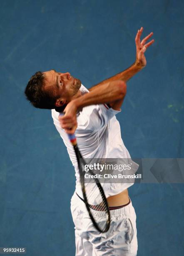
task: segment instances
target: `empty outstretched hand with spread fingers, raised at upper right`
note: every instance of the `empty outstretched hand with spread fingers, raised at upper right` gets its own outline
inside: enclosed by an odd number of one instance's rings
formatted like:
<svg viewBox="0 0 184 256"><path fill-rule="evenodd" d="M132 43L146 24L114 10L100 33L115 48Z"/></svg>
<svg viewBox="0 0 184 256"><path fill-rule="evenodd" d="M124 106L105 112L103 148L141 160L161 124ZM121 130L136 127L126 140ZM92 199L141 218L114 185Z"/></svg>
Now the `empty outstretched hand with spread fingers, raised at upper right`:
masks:
<svg viewBox="0 0 184 256"><path fill-rule="evenodd" d="M140 37L142 35L143 27L138 30L137 35L135 37L135 44L136 44L136 61L135 64L145 67L146 66L146 58L144 56L145 51L147 48L154 43L154 39L152 39L150 42L147 42L147 40L153 35L153 32L151 32L148 36L146 36L142 41L140 41Z"/></svg>

